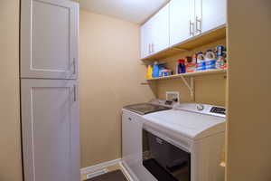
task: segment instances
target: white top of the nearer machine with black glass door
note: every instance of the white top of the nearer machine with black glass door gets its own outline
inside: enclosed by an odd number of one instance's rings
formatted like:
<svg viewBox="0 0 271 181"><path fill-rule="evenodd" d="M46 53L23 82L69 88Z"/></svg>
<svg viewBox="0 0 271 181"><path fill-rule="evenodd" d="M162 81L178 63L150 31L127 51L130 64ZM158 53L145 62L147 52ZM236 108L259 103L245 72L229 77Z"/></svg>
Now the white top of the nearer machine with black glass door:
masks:
<svg viewBox="0 0 271 181"><path fill-rule="evenodd" d="M225 119L221 117L186 111L164 110L143 116L145 124L159 129L170 129L183 137L198 140L224 132Z"/></svg>

